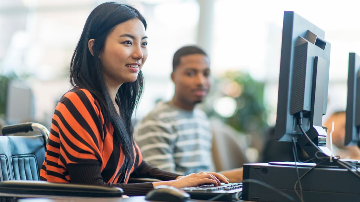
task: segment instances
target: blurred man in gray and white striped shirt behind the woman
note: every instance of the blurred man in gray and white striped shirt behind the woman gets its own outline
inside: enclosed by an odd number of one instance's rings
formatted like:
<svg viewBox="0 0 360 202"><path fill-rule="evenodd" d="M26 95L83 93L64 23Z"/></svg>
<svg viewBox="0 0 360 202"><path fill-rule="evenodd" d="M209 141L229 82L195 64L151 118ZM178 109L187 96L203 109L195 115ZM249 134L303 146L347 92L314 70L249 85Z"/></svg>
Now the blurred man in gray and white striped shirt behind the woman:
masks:
<svg viewBox="0 0 360 202"><path fill-rule="evenodd" d="M149 164L179 174L214 171L212 131L207 115L195 106L210 90L210 60L196 46L177 50L171 79L172 100L160 102L135 127L135 140ZM242 181L243 169L220 171L230 182Z"/></svg>

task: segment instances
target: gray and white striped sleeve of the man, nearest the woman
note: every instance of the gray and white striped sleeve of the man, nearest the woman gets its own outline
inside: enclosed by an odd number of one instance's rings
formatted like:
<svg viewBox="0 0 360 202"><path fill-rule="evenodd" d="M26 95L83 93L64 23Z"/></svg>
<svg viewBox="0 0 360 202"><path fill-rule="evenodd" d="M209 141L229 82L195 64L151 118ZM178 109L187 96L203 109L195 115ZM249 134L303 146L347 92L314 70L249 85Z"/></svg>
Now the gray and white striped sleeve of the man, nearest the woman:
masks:
<svg viewBox="0 0 360 202"><path fill-rule="evenodd" d="M147 116L136 125L134 135L146 162L159 169L175 172L173 155L176 137L170 124Z"/></svg>

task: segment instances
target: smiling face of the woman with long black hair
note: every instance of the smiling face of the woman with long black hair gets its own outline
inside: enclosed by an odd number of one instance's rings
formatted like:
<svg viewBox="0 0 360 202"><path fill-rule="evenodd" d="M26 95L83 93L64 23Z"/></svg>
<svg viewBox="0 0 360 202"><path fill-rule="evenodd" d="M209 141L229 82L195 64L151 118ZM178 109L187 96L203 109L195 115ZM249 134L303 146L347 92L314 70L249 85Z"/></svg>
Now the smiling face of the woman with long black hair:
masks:
<svg viewBox="0 0 360 202"><path fill-rule="evenodd" d="M144 24L137 18L118 24L106 38L99 59L108 86L134 82L147 57Z"/></svg>

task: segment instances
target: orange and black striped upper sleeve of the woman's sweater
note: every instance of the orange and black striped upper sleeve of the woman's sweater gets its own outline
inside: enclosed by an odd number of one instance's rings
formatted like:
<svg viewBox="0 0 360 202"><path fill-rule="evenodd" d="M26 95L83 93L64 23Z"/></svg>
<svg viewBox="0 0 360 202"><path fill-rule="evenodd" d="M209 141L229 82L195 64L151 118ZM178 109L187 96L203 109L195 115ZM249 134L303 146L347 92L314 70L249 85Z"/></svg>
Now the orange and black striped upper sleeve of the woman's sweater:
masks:
<svg viewBox="0 0 360 202"><path fill-rule="evenodd" d="M75 89L60 100L53 116L53 126L61 142L62 166L87 160L102 162L102 121L99 114L89 91Z"/></svg>

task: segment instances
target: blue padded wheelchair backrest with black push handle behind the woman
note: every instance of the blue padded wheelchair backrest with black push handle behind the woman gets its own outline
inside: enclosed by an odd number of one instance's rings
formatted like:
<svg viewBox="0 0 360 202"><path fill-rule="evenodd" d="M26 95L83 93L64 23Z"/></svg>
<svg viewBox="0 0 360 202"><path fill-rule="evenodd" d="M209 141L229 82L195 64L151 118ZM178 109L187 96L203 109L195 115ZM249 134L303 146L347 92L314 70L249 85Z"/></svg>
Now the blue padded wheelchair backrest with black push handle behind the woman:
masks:
<svg viewBox="0 0 360 202"><path fill-rule="evenodd" d="M36 125L37 123L30 122L2 128L4 136L0 136L0 181L40 180L39 173L45 160L48 130L44 127L45 129L41 129L41 133L44 134L33 136L9 135L32 131Z"/></svg>

